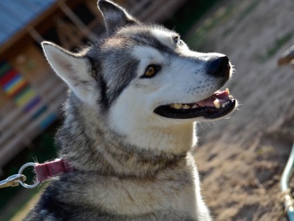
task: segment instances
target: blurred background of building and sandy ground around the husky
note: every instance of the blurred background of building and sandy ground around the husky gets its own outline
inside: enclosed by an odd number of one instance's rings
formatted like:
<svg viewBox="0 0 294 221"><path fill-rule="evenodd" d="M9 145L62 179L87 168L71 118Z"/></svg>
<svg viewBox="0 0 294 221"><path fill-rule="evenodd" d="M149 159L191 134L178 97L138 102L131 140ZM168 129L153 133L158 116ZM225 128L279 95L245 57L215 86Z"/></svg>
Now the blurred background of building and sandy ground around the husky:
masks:
<svg viewBox="0 0 294 221"><path fill-rule="evenodd" d="M196 51L230 57L230 120L198 125L196 163L215 220L286 220L279 179L294 141L293 0L116 0ZM0 179L57 156L67 88L40 42L78 51L105 31L96 0L0 1ZM292 61L291 61L292 60ZM180 73L179 73L180 74ZM33 173L26 172L28 182ZM46 185L45 185L46 186ZM291 187L294 186L292 182ZM41 188L0 189L0 220L21 220Z"/></svg>

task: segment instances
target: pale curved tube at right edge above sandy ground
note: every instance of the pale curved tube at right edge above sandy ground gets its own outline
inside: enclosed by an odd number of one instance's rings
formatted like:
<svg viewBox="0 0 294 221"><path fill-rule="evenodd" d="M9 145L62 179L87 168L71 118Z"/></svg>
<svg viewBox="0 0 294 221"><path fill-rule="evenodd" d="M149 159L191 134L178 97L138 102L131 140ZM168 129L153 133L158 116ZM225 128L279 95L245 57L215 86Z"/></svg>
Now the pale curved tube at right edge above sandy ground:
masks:
<svg viewBox="0 0 294 221"><path fill-rule="evenodd" d="M281 177L281 191L284 193L284 206L288 215L289 221L294 221L294 205L293 205L293 198L291 195L291 191L288 186L289 177L293 171L294 167L294 143L291 150L291 154L288 158L288 162L286 164L286 167L283 171L282 177Z"/></svg>

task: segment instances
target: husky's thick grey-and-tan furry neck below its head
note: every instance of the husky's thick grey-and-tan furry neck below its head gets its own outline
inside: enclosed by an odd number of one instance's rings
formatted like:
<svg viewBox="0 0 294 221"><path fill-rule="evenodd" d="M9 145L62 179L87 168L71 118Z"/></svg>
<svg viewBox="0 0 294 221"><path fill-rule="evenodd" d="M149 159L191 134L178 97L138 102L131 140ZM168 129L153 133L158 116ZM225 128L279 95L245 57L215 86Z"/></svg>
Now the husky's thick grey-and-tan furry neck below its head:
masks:
<svg viewBox="0 0 294 221"><path fill-rule="evenodd" d="M58 131L56 140L62 158L76 170L121 177L153 177L159 170L182 161L196 141L193 125L139 131L136 137L126 138L110 132L103 119L97 118L94 110L74 102ZM148 148L140 140L148 140Z"/></svg>

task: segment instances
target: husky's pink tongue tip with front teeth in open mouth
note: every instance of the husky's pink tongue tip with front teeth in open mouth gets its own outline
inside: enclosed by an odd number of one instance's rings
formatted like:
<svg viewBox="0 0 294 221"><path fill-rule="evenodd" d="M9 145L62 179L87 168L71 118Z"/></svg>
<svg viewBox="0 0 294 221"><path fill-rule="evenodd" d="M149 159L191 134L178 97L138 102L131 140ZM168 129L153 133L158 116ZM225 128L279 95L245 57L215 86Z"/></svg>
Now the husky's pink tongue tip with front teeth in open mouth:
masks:
<svg viewBox="0 0 294 221"><path fill-rule="evenodd" d="M206 99L202 101L197 101L196 104L201 107L205 106L211 106L211 107L217 107L218 108L222 105L225 104L225 102L229 99L230 96L230 91L229 89L225 89L223 91L216 91L214 95L211 97L207 97Z"/></svg>

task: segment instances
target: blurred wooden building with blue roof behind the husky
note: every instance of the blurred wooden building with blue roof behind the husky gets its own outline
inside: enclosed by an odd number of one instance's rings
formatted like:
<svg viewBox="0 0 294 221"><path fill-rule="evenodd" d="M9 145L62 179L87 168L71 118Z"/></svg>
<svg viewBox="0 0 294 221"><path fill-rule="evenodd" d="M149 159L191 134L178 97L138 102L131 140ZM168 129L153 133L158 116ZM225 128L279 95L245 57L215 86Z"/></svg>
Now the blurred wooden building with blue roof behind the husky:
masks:
<svg viewBox="0 0 294 221"><path fill-rule="evenodd" d="M117 0L141 20L164 22L185 0ZM0 168L60 115L66 87L40 42L74 50L104 31L96 0L0 1Z"/></svg>

